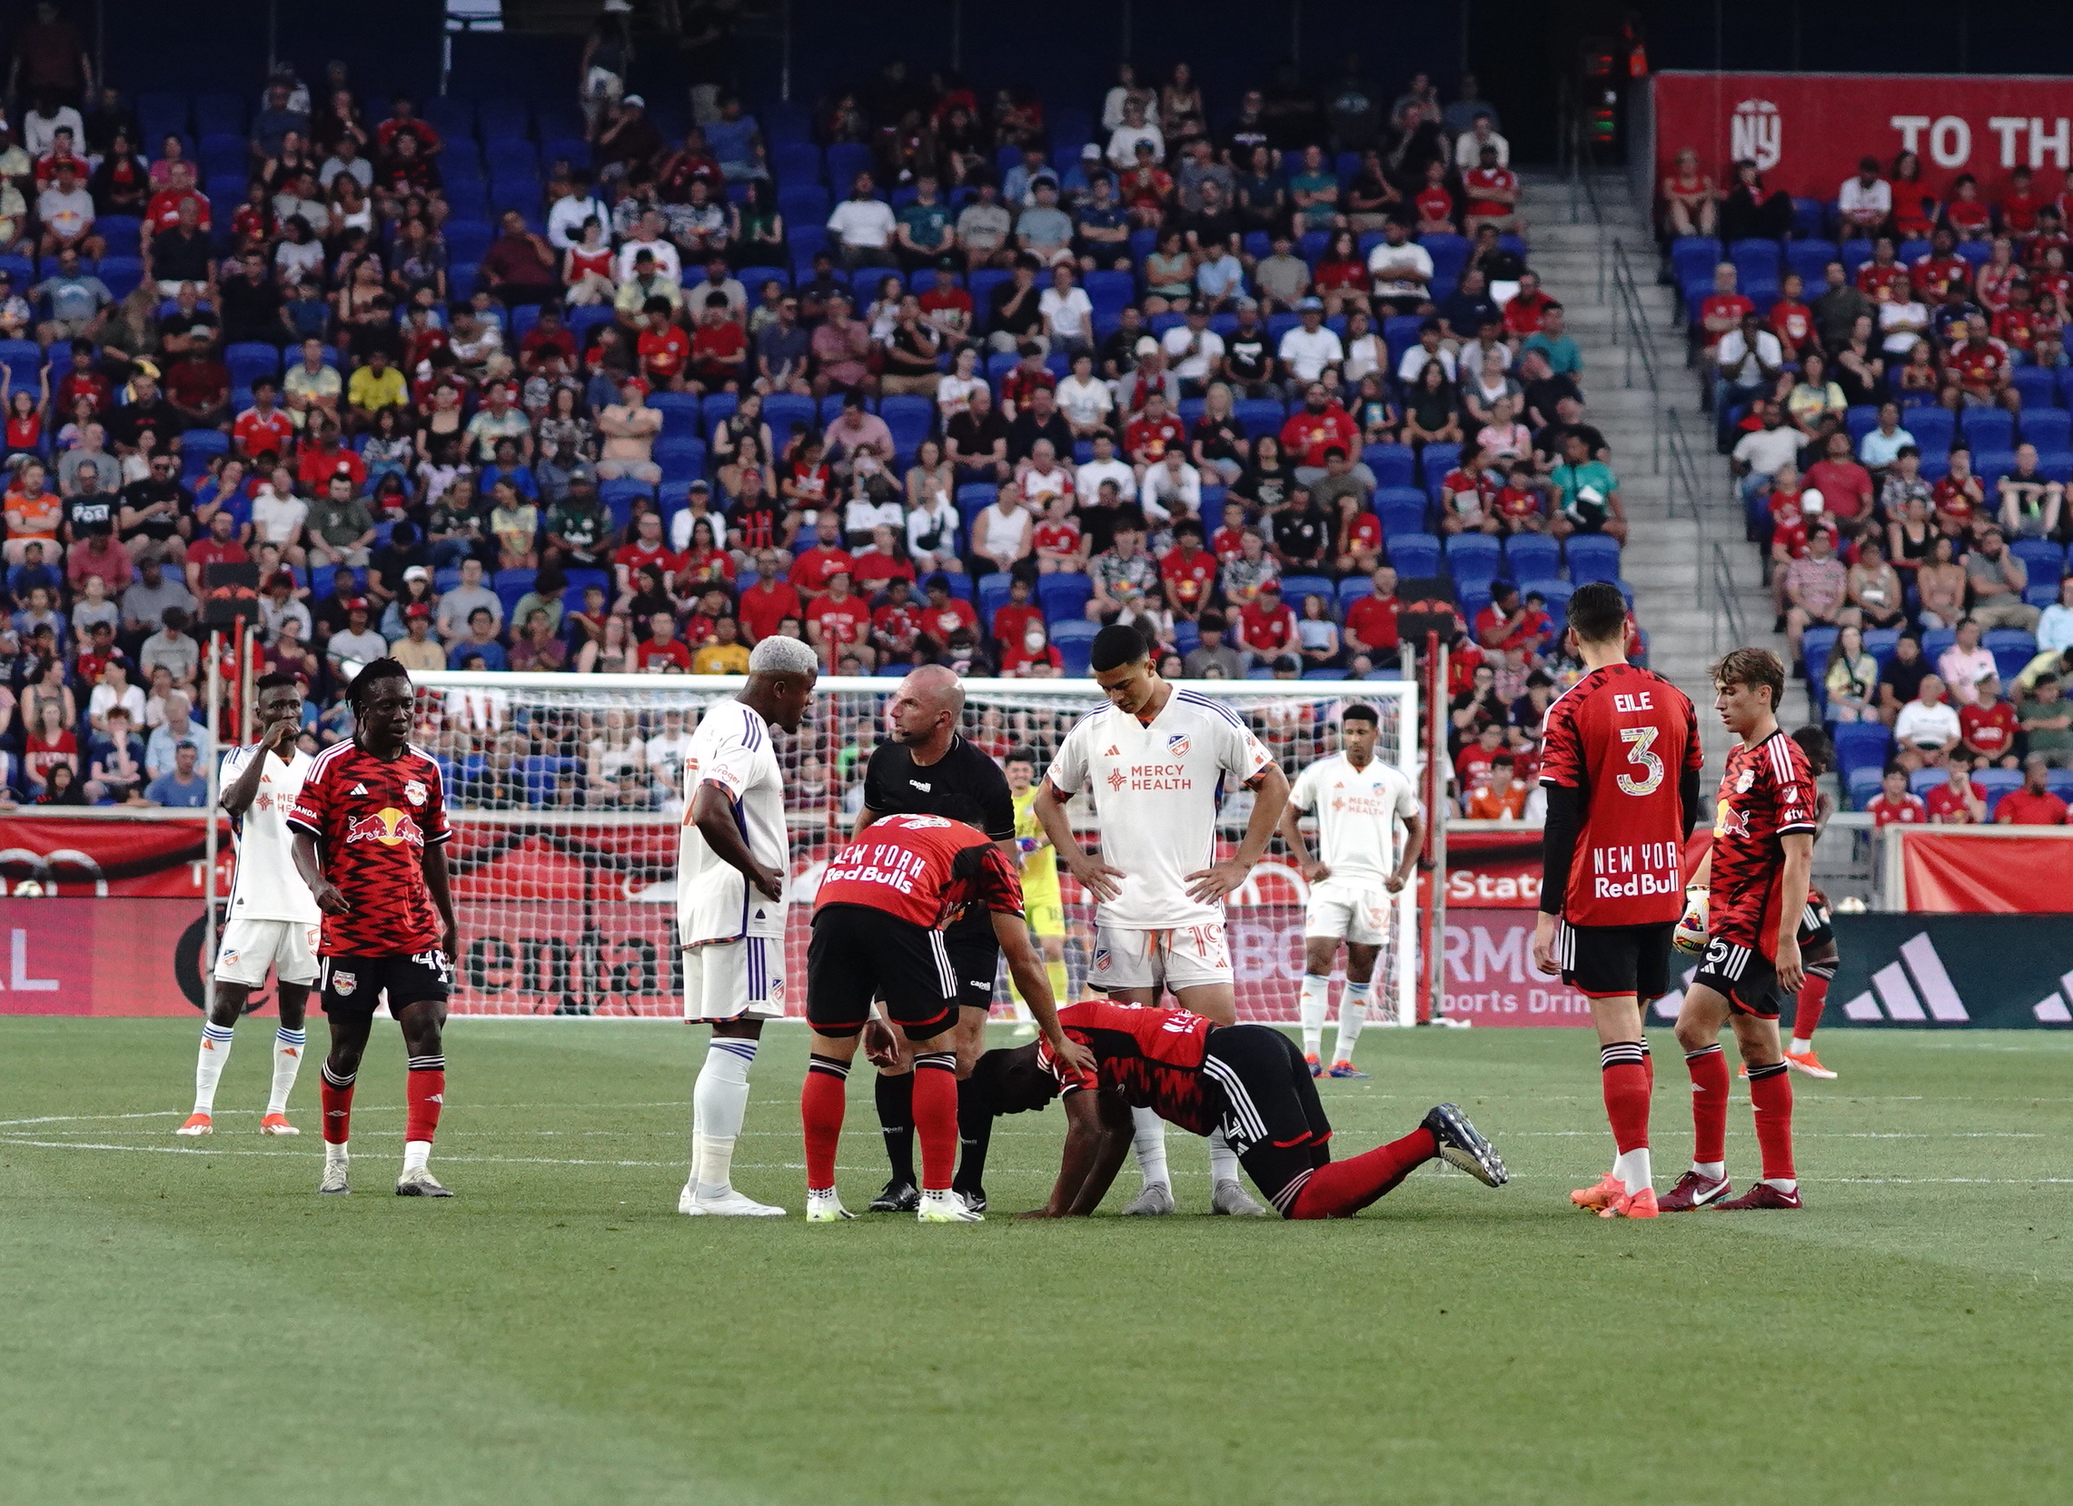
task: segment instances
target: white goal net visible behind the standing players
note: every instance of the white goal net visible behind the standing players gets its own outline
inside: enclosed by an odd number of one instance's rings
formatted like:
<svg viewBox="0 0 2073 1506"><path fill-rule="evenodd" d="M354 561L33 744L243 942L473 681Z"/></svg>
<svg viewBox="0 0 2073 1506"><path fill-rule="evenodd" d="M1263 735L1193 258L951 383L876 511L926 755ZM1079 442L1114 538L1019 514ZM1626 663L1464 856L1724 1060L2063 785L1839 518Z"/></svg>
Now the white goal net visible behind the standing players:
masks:
<svg viewBox="0 0 2073 1506"><path fill-rule="evenodd" d="M419 673L417 742L448 785L448 868L460 909L456 1013L674 1015L682 1009L676 851L682 760L703 711L738 688L711 675ZM885 735L893 677L823 677L796 735L777 733L792 829L788 974L806 976L819 874L862 808L864 762ZM1294 777L1337 752L1339 711L1381 715L1376 756L1416 781L1416 688L1401 682L1188 682L1246 719ZM993 754L1028 748L1039 777L1066 731L1101 704L1088 679L968 679L962 733ZM1252 795L1227 795L1219 851L1244 835ZM1072 806L1082 841L1099 812ZM1066 967L1084 996L1092 905L1059 864ZM1416 1021L1416 885L1389 907L1379 1019ZM1229 899L1240 1019L1291 1023L1308 885L1279 837ZM1401 938L1401 940L1399 940ZM1341 955L1343 967L1343 955ZM995 1011L1014 1009L1003 976ZM792 1013L804 1013L804 990Z"/></svg>

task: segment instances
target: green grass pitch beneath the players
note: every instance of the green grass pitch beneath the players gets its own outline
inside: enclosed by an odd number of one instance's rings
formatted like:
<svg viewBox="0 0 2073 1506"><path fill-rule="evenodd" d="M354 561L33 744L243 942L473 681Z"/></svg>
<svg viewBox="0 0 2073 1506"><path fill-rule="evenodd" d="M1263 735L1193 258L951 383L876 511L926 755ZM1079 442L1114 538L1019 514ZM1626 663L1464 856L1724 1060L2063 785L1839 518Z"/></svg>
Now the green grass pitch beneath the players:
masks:
<svg viewBox="0 0 2073 1506"><path fill-rule="evenodd" d="M195 1036L0 1021L6 1502L1998 1506L2073 1477L2069 1038L1835 1034L1843 1079L1795 1077L1801 1214L1575 1214L1609 1156L1586 1032L1372 1032L1374 1081L1323 1083L1339 1143L1453 1098L1509 1187L1435 1166L1354 1222L1014 1222L1053 1110L1001 1123L983 1226L808 1228L796 1030L736 1162L782 1222L674 1212L705 1032L456 1021L452 1201L390 1195L394 1032L348 1199L315 1195L315 1063L303 1137L257 1135L272 1019L214 1139L172 1137ZM1689 1121L1656 1046L1667 1187ZM1198 1214L1202 1152L1169 1146ZM1737 1185L1752 1162L1737 1083Z"/></svg>

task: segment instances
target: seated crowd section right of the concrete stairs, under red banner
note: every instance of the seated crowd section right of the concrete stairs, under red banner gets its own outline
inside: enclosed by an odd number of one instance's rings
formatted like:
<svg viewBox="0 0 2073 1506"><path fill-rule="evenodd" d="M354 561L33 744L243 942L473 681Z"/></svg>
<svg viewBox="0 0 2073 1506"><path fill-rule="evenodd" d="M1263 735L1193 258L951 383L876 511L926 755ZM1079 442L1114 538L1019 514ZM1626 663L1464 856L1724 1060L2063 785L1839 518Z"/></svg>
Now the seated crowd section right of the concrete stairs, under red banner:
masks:
<svg viewBox="0 0 2073 1506"><path fill-rule="evenodd" d="M1667 267L1847 789L1882 824L2065 824L2069 197L2027 168L1938 197L1911 151L1826 203L1723 182L1675 157Z"/></svg>

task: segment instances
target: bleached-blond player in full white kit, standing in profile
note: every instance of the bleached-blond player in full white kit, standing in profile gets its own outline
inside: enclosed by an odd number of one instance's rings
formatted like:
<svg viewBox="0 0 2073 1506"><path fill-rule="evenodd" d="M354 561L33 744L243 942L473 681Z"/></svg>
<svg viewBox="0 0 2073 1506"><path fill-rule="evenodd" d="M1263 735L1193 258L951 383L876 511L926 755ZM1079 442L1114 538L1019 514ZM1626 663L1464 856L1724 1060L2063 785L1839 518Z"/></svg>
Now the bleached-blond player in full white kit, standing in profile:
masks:
<svg viewBox="0 0 2073 1506"><path fill-rule="evenodd" d="M684 1019L713 1027L690 1090L690 1177L680 1214L784 1218L734 1191L734 1146L748 1112L748 1069L763 1021L784 1015L784 769L771 727L794 733L819 655L771 636L748 655L748 684L715 700L684 750L684 831L676 851L676 943Z"/></svg>

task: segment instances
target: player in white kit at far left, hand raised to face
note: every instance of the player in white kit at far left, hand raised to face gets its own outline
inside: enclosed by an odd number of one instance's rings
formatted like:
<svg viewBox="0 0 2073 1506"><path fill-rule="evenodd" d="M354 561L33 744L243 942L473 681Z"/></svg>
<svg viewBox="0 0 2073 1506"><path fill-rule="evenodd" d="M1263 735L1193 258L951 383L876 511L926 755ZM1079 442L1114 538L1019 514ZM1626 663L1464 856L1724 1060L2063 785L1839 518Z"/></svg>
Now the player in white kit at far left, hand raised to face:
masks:
<svg viewBox="0 0 2073 1506"><path fill-rule="evenodd" d="M216 994L201 1025L195 1061L195 1112L176 1135L207 1135L214 1129L216 1081L230 1061L230 1032L245 1013L253 988L276 974L280 1025L274 1027L274 1090L265 1100L261 1135L301 1135L288 1123L288 1094L303 1065L309 1034L303 1015L309 986L317 982L317 928L323 911L309 885L294 870L294 841L288 808L303 789L309 754L294 746L303 733L303 682L294 675L261 675L253 702L259 742L232 748L224 756L222 808L238 839L238 870L230 880L230 914L216 949Z"/></svg>

